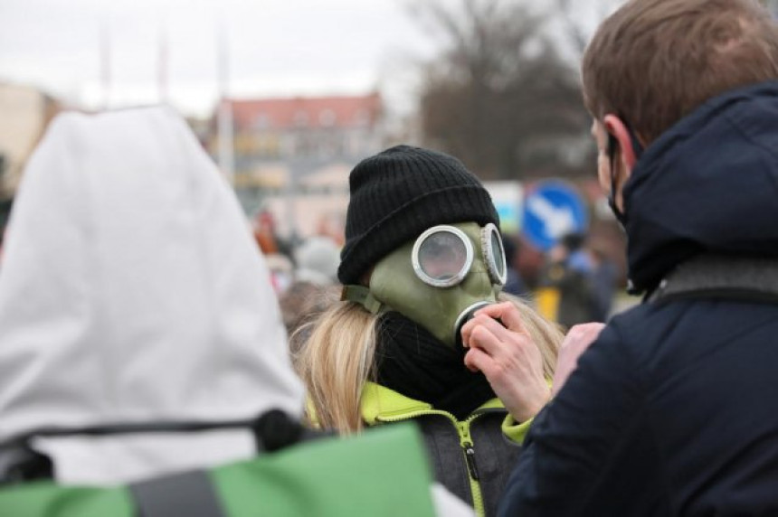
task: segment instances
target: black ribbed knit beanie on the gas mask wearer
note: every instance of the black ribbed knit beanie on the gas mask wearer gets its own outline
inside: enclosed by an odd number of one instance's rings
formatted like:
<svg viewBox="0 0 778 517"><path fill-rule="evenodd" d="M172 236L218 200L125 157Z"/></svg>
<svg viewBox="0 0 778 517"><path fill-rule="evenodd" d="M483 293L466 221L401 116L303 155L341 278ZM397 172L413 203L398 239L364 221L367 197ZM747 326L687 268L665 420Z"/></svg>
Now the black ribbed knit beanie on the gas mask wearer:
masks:
<svg viewBox="0 0 778 517"><path fill-rule="evenodd" d="M371 266L437 224L499 217L483 185L456 158L395 146L365 158L348 178L346 245L337 278L357 284Z"/></svg>

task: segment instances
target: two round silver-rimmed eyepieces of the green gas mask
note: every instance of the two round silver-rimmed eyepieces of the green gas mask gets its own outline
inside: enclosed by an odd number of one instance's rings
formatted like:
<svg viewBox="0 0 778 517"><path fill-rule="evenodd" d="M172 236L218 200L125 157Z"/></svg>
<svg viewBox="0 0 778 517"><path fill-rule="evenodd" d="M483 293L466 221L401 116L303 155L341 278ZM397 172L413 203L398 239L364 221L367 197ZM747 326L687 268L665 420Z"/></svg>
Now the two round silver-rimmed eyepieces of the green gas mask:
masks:
<svg viewBox="0 0 778 517"><path fill-rule="evenodd" d="M499 230L487 224L480 240L489 278L498 286L505 285L508 268ZM424 231L413 244L413 271L429 286L453 287L467 277L473 255L473 244L462 230L441 224Z"/></svg>

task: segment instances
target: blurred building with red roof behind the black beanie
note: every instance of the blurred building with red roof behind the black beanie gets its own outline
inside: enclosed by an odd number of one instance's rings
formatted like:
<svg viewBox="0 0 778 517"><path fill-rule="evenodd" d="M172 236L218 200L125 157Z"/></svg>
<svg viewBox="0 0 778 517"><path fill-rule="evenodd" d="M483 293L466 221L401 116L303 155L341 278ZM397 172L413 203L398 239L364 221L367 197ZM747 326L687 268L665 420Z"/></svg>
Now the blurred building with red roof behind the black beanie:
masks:
<svg viewBox="0 0 778 517"><path fill-rule="evenodd" d="M235 192L247 212L262 205L279 212L282 233L308 233L335 210L329 205L336 198L338 210L345 210L348 172L384 148L378 93L229 102ZM210 148L216 155L218 135Z"/></svg>

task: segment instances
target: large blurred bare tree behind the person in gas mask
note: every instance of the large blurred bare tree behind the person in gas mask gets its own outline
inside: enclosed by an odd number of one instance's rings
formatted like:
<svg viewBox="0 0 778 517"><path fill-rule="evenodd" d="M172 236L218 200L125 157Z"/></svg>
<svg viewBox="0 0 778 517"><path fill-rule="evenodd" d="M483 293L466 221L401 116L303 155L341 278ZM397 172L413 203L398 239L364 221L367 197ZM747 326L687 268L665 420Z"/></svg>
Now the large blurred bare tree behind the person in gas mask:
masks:
<svg viewBox="0 0 778 517"><path fill-rule="evenodd" d="M488 179L569 172L555 145L584 135L588 119L574 62L544 31L547 14L518 1L461 0L458 7L427 1L415 9L442 47L424 70L426 144Z"/></svg>

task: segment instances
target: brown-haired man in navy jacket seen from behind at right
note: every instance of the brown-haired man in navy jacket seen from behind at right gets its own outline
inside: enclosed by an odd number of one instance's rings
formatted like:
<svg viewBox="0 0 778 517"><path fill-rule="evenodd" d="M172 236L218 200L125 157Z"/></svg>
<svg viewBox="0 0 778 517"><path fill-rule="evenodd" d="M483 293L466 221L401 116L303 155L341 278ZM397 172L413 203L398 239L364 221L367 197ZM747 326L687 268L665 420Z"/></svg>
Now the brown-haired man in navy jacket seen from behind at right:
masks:
<svg viewBox="0 0 778 517"><path fill-rule="evenodd" d="M778 27L755 0L631 0L583 80L646 297L580 358L574 328L501 512L778 515Z"/></svg>

